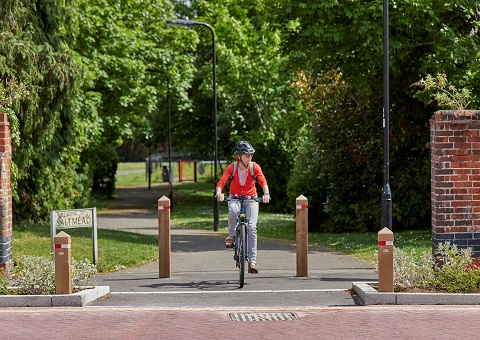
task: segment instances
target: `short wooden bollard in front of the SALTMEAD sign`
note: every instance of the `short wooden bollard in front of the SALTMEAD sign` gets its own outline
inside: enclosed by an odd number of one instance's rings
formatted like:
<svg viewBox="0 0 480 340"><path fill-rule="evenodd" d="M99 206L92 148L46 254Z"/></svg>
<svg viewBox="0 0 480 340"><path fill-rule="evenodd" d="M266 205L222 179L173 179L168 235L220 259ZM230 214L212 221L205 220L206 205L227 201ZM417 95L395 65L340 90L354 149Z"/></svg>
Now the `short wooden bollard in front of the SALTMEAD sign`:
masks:
<svg viewBox="0 0 480 340"><path fill-rule="evenodd" d="M55 293L72 294L71 237L64 231L53 238L55 247Z"/></svg>

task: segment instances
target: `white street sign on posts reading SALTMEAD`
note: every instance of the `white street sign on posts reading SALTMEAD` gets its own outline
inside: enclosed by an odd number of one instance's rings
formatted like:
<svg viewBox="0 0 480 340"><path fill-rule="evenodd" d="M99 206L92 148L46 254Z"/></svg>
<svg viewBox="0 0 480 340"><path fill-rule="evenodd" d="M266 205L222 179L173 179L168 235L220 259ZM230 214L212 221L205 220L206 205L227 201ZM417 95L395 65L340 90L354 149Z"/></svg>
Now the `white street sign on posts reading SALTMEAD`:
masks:
<svg viewBox="0 0 480 340"><path fill-rule="evenodd" d="M93 263L97 264L97 209L52 210L50 214L52 252L54 251L53 238L57 234L57 230L70 228L92 228Z"/></svg>

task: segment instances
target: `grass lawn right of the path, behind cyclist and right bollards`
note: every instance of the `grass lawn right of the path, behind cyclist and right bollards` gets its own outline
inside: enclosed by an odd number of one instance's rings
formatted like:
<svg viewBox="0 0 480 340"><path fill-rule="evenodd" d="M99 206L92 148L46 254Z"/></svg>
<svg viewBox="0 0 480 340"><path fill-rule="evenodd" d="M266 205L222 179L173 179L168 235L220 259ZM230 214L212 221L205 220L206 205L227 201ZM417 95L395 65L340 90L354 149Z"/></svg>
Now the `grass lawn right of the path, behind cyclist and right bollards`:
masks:
<svg viewBox="0 0 480 340"><path fill-rule="evenodd" d="M175 209L172 223L192 229L213 228L212 183L191 183L175 187ZM296 224L294 215L262 212L257 223L259 237L295 242ZM227 231L227 205L220 203L220 231ZM403 231L394 234L396 247L406 252L421 254L431 251L431 231ZM309 233L311 246L327 247L351 254L366 261L377 258L378 233Z"/></svg>

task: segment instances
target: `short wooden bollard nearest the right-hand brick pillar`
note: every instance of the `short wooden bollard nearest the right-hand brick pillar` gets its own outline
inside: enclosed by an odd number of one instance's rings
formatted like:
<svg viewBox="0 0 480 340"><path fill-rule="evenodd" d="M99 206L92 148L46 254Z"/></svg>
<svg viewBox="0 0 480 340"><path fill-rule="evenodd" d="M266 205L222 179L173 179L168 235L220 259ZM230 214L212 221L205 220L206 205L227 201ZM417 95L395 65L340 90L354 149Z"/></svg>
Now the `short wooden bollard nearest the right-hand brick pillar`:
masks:
<svg viewBox="0 0 480 340"><path fill-rule="evenodd" d="M393 232L378 232L378 291L393 292Z"/></svg>

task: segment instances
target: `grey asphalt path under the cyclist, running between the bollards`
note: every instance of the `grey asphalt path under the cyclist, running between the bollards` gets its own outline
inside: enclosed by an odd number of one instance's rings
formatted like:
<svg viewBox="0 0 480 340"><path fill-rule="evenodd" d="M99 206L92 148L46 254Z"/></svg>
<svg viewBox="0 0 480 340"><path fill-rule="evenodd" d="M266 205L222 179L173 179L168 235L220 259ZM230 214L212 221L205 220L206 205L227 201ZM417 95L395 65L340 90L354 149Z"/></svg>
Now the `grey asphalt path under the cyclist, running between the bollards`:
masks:
<svg viewBox="0 0 480 340"><path fill-rule="evenodd" d="M118 188L109 211L98 214L99 228L158 235L157 201L146 188ZM310 248L308 277L297 277L295 244L259 236L259 274L246 274L239 289L233 251L225 234L171 227L170 278L159 278L158 262L98 275L111 294L94 306L210 308L225 306L354 306L352 282L376 281L369 263L322 248Z"/></svg>

